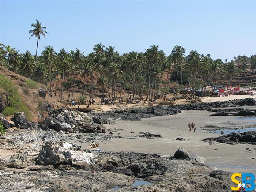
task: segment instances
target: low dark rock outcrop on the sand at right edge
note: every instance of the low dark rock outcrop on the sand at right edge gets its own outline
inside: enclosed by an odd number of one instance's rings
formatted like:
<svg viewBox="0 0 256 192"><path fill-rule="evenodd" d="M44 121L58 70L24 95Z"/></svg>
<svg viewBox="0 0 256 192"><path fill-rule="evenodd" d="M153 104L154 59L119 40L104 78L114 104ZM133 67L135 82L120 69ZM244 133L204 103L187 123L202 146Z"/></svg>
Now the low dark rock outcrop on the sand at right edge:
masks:
<svg viewBox="0 0 256 192"><path fill-rule="evenodd" d="M248 131L244 133L230 133L227 135L205 138L203 141L217 141L218 143L234 143L234 144L256 144L256 131Z"/></svg>

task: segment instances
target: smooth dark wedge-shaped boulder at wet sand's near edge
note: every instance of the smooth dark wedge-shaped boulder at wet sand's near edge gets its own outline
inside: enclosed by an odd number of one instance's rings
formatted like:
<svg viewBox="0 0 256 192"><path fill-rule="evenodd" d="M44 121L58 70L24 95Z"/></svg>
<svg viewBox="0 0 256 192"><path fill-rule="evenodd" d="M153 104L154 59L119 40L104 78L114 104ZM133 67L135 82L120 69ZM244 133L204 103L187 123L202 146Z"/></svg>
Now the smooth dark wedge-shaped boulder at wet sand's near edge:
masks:
<svg viewBox="0 0 256 192"><path fill-rule="evenodd" d="M204 163L204 158L200 157L199 155L193 154L191 151L188 151L184 148L179 148L173 158L175 159L186 159L193 163Z"/></svg>

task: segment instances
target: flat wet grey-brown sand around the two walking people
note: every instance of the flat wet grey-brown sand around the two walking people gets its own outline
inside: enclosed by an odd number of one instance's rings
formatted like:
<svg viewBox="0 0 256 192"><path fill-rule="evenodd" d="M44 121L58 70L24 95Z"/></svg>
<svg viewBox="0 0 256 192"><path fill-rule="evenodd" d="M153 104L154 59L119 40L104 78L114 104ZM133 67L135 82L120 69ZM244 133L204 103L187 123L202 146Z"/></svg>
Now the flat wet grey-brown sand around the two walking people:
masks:
<svg viewBox="0 0 256 192"><path fill-rule="evenodd" d="M249 108L255 109L256 107ZM256 160L252 159L252 157L256 157L256 146L246 144L232 146L225 143L209 145L208 142L201 141L201 139L207 137L221 136L202 130L206 129L205 125L242 128L243 126L255 125L255 119L243 119L239 116L209 116L213 113L189 110L172 116L144 118L142 121L119 120L116 125L106 125L107 128L124 129L123 131L113 132L114 135L131 137L139 135L139 132L150 132L160 133L163 138L115 138L109 142L101 143L100 148L106 151L133 151L172 156L178 148L182 147L206 158L206 164L214 165L218 169L255 174ZM191 121L196 124L196 132L188 131L187 125ZM131 133L131 131L134 133ZM177 137L182 137L186 140L177 141ZM252 152L246 150L248 147L252 149Z"/></svg>

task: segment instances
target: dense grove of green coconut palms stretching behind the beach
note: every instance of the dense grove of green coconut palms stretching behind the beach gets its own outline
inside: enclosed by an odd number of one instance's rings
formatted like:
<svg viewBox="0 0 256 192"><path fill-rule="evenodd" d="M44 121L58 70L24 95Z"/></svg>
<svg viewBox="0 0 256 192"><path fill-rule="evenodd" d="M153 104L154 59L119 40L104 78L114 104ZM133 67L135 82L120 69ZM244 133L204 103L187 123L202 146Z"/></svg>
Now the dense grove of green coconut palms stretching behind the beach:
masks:
<svg viewBox="0 0 256 192"><path fill-rule="evenodd" d="M44 30L46 27L42 27L38 21L31 27L33 29L29 33L32 34L31 37L37 38L38 48L40 38L48 33ZM61 86L55 86L54 92L59 94L59 101L66 103L72 101L76 79L82 77L85 84L81 102L85 91L89 91L88 106L93 102L95 86L101 90L102 97L108 93L113 103L117 96L127 102L137 99L152 102L159 93L172 92L175 98L178 90L188 88L192 89L190 96L193 96L193 90L203 90L208 84L229 84L238 71L256 69L256 54L250 57L237 56L230 62L223 62L196 50L191 50L188 56L185 53L184 47L176 45L166 55L159 50L158 45L152 45L145 52L120 55L112 46L97 44L88 55L84 55L80 49L67 52L63 48L56 52L49 45L38 56L37 49L36 55L30 51L22 54L10 45L0 44L0 64L45 84L51 94L54 82L61 78ZM182 91L182 97L187 96L187 92L185 94Z"/></svg>

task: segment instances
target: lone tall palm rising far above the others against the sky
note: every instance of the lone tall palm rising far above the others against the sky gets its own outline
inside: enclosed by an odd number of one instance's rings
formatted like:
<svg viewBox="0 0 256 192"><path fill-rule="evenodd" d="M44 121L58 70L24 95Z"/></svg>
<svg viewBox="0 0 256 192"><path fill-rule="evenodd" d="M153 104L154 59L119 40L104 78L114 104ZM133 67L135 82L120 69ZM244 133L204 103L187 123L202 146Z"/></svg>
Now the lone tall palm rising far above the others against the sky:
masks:
<svg viewBox="0 0 256 192"><path fill-rule="evenodd" d="M29 30L29 33L32 34L30 36L30 38L33 36L35 36L37 38L37 48L38 48L38 41L40 41L41 35L45 38L45 35L48 34L48 32L45 31L46 27L42 27L42 25L41 25L42 23L40 23L38 20L36 20L36 21L37 21L36 23L31 24L31 27L34 27L34 29ZM37 49L35 52L35 63L36 62L37 62ZM34 72L33 72L33 75L31 76L31 78L34 76L34 74L35 74L35 64L34 64Z"/></svg>

